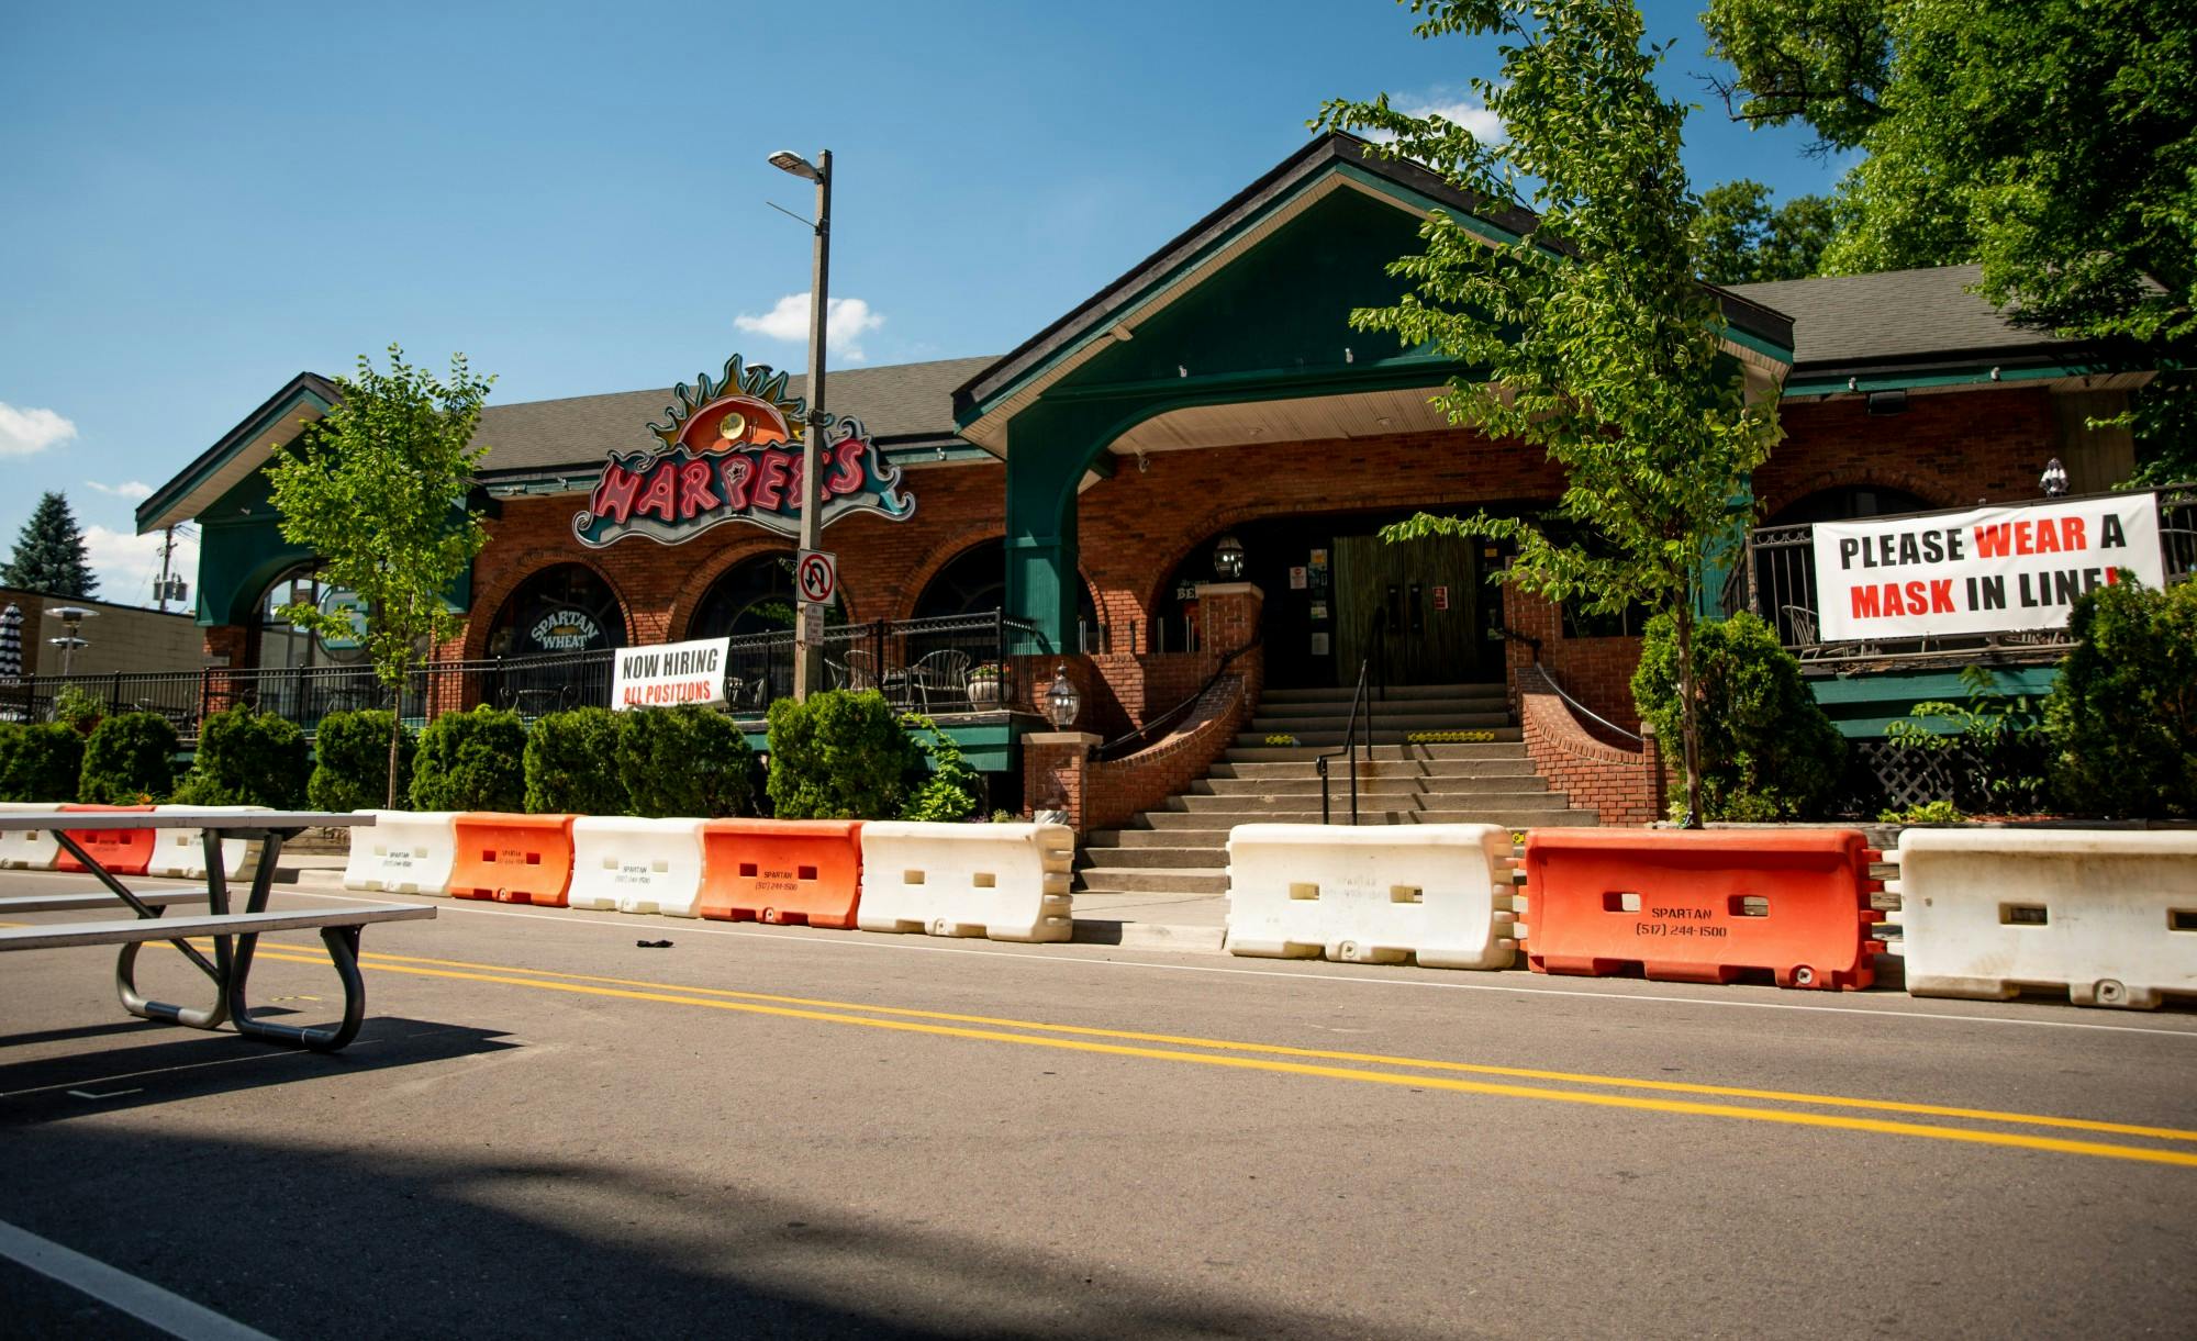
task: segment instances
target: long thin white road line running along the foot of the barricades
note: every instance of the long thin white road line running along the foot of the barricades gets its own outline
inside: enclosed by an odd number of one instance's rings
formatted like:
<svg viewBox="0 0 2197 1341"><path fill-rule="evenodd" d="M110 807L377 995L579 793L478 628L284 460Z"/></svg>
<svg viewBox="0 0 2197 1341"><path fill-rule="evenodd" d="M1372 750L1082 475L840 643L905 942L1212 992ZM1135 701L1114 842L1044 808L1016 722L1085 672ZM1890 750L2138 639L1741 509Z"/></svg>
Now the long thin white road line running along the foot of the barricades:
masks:
<svg viewBox="0 0 2197 1341"><path fill-rule="evenodd" d="M283 886L281 893L299 895L303 899L336 899L343 904L382 904L387 899L360 899L356 895L319 895L310 890L299 890ZM404 895L398 895L404 897ZM1646 1000L1657 1005L1698 1005L1698 1007L1722 1007L1722 1009L1753 1009L1753 1011L1804 1011L1819 1016L1870 1016L1878 1020L1929 1020L1947 1024L2015 1024L2028 1029L2087 1029L2098 1033L2146 1033L2157 1038L2182 1038L2197 1042L2197 1029L2153 1029L2146 1024L2094 1024L2087 1020L2030 1020L2010 1016L1958 1016L1947 1011L1905 1011L1894 1007L1834 1007L1834 1005L1808 1005L1799 1000L1736 1000L1736 998L1714 998L1714 996L1659 996L1646 991L1575 991L1569 987L1523 987L1512 983L1452 983L1452 980L1417 980L1417 978L1384 978L1384 976L1358 976L1358 974L1318 974L1318 972L1285 972L1285 969L1239 969L1219 967L1204 963L1151 963L1145 958L1085 958L1066 954L1033 954L1017 950L973 950L967 945L927 945L921 941L883 941L863 939L844 932L811 932L804 928L780 928L769 932L743 932L734 928L703 926L701 921L688 921L683 917L642 921L635 917L617 917L604 921L602 917L589 917L587 912L521 912L516 908L483 906L477 899L422 899L431 908L444 908L448 912L472 912L479 917L523 917L529 921L556 921L562 926L598 926L611 928L615 932L650 932L663 930L670 937L738 937L747 941L776 941L778 945L822 945L826 950L901 950L916 954L975 954L984 958L1013 958L1033 965L1081 965L1081 967L1114 967L1114 969L1151 969L1164 974L1224 974L1237 978L1287 978L1292 983L1340 983L1345 987L1415 987L1421 991L1509 991L1516 996L1564 996L1573 1000ZM310 950L310 945L301 945ZM371 952L367 952L371 958ZM516 967L516 965L514 965ZM2070 1007L2074 1009L2074 1007Z"/></svg>

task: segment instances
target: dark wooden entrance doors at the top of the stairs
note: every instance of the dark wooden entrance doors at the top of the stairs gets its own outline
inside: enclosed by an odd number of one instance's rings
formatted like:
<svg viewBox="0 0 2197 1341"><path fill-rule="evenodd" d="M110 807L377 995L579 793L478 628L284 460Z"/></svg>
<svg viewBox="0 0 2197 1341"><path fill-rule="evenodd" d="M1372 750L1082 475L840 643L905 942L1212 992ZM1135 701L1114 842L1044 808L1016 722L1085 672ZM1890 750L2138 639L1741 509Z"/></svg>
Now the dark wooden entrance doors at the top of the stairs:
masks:
<svg viewBox="0 0 2197 1341"><path fill-rule="evenodd" d="M1389 684L1483 679L1483 602L1476 541L1384 543L1336 536L1336 677L1358 681L1358 664L1386 638Z"/></svg>

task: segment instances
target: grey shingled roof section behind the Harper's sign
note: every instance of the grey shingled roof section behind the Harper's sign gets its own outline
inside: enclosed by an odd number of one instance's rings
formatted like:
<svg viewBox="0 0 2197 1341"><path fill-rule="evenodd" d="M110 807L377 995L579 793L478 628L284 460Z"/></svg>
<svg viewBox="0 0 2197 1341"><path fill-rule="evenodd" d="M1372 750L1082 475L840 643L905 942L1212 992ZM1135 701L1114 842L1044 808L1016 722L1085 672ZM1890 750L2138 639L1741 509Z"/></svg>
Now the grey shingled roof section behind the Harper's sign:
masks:
<svg viewBox="0 0 2197 1341"><path fill-rule="evenodd" d="M830 369L824 400L835 415L855 415L879 446L953 440L953 387L997 363L982 358L938 358L888 367ZM789 396L806 391L806 376L787 383ZM488 444L481 477L523 475L560 466L602 462L609 451L663 446L648 431L663 422L672 391L611 391L490 404L481 411L475 442Z"/></svg>

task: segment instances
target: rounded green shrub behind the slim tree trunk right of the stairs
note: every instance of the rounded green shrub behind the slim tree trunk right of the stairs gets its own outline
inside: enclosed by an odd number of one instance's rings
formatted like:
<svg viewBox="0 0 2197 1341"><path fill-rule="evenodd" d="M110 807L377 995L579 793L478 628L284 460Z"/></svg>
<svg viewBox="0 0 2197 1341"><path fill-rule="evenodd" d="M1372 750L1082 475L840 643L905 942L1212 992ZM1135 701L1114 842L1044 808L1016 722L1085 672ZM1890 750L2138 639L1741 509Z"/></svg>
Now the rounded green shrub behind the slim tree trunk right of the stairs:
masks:
<svg viewBox="0 0 2197 1341"><path fill-rule="evenodd" d="M1703 820L1817 816L1845 761L1845 741L1799 677L1799 660L1751 613L1694 624ZM1685 747L1679 708L1676 620L1648 620L1632 701L1652 721L1663 756ZM1683 796L1674 802L1683 807Z"/></svg>

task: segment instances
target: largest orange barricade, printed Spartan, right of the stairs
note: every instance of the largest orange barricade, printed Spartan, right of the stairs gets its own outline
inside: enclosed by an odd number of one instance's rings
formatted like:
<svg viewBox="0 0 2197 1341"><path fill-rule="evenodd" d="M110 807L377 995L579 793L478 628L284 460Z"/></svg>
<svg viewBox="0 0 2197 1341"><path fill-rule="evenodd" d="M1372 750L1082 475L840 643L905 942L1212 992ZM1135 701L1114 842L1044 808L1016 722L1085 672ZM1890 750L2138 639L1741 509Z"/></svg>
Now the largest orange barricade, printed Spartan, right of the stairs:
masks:
<svg viewBox="0 0 2197 1341"><path fill-rule="evenodd" d="M1534 829L1520 939L1536 974L1870 987L1874 860L1859 829Z"/></svg>

